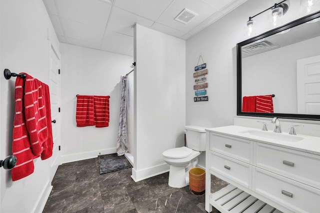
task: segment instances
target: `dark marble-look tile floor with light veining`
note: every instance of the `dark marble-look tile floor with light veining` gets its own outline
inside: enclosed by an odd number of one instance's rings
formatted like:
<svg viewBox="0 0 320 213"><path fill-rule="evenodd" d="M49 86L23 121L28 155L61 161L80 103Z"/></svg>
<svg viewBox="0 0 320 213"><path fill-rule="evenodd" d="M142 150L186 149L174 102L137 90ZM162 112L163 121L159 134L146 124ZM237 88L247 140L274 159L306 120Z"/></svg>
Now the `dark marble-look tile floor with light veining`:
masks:
<svg viewBox="0 0 320 213"><path fill-rule="evenodd" d="M170 187L168 172L138 182L130 175L131 168L99 174L97 158L64 163L55 173L42 212L206 212L205 195L190 193L188 186ZM211 179L212 192L226 185Z"/></svg>

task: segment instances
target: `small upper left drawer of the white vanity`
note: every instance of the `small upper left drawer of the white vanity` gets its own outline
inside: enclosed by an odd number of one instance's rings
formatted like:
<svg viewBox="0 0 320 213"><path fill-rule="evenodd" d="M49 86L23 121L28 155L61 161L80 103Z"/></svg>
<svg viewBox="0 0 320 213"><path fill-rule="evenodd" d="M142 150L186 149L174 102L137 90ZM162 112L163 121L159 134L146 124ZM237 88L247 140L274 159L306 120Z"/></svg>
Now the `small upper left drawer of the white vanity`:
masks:
<svg viewBox="0 0 320 213"><path fill-rule="evenodd" d="M210 133L210 150L250 163L252 145L250 140Z"/></svg>

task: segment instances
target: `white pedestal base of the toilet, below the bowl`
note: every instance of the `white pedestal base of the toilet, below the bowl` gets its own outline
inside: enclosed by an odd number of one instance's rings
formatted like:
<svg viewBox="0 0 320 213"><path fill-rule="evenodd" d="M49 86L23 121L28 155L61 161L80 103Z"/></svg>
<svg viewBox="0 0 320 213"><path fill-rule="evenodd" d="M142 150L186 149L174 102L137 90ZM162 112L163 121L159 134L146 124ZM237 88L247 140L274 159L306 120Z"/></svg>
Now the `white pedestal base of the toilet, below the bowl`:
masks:
<svg viewBox="0 0 320 213"><path fill-rule="evenodd" d="M174 188L182 188L189 184L185 181L185 166L170 165L168 184Z"/></svg>

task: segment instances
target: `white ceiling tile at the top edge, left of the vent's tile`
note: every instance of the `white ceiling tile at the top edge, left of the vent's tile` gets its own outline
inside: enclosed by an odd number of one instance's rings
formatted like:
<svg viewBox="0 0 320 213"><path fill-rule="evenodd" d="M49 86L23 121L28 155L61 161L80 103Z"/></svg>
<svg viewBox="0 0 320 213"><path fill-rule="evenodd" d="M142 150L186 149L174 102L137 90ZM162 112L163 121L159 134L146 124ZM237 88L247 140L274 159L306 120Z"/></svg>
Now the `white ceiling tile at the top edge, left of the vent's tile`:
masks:
<svg viewBox="0 0 320 213"><path fill-rule="evenodd" d="M139 16L156 20L173 0L115 0L114 5Z"/></svg>

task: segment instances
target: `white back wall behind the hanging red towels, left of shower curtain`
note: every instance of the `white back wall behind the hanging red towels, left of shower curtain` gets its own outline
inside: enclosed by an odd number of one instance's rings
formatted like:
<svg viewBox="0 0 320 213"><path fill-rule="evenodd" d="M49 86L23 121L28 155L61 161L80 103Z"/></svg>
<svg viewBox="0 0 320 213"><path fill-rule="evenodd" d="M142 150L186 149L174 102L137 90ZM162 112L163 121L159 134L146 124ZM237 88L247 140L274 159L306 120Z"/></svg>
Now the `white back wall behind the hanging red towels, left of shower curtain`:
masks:
<svg viewBox="0 0 320 213"><path fill-rule="evenodd" d="M60 53L62 163L115 153L121 75L131 70L133 57L65 43ZM76 127L76 94L110 95L109 126Z"/></svg>

